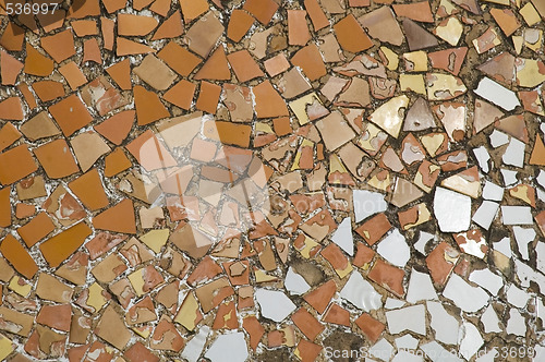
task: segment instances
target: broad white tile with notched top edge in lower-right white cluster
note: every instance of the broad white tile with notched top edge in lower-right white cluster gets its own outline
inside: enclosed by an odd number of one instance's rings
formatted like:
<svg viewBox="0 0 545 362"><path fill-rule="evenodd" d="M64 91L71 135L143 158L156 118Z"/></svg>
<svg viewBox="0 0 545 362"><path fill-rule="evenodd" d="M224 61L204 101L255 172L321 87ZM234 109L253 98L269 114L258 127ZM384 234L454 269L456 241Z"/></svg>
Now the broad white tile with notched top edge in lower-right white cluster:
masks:
<svg viewBox="0 0 545 362"><path fill-rule="evenodd" d="M443 291L462 311L473 313L488 304L488 294L481 287L470 286L458 274L452 274Z"/></svg>

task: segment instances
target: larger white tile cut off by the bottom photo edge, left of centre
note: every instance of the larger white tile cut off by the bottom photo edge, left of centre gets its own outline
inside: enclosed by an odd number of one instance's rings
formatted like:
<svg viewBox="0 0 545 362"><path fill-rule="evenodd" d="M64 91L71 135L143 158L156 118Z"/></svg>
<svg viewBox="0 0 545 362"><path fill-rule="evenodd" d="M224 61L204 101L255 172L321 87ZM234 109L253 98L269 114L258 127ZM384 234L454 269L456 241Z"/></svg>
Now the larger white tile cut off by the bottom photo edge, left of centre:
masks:
<svg viewBox="0 0 545 362"><path fill-rule="evenodd" d="M244 362L247 354L246 340L242 331L219 335L205 357L211 362Z"/></svg>

